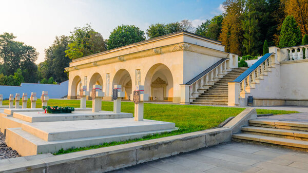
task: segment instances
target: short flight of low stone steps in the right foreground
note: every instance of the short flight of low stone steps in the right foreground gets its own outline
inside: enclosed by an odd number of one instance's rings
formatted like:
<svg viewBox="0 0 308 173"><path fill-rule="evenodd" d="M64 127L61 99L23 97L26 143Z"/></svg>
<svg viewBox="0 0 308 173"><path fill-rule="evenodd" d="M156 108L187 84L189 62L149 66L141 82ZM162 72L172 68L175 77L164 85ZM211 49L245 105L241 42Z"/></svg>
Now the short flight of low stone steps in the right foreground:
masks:
<svg viewBox="0 0 308 173"><path fill-rule="evenodd" d="M249 120L233 140L308 151L308 123L270 119Z"/></svg>

